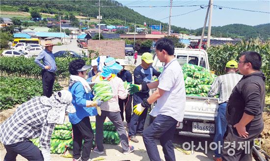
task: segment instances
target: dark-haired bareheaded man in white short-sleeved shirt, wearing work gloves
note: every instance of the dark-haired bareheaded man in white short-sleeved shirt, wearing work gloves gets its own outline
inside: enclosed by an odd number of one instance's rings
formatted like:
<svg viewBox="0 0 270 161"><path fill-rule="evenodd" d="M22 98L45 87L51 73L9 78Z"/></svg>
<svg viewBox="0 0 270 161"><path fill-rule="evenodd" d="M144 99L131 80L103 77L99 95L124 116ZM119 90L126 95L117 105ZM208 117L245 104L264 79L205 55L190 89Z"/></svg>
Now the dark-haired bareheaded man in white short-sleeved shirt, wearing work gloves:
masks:
<svg viewBox="0 0 270 161"><path fill-rule="evenodd" d="M142 137L147 154L151 161L161 161L156 140L159 139L163 148L166 161L175 161L174 147L172 144L176 124L183 121L186 90L181 66L174 58L174 45L169 39L163 38L155 45L157 57L164 62L164 68L158 81L131 85L130 92L157 90L145 98L141 104L134 107L134 113L140 115L143 110L151 107L157 101L150 115L156 116L153 123L144 130Z"/></svg>

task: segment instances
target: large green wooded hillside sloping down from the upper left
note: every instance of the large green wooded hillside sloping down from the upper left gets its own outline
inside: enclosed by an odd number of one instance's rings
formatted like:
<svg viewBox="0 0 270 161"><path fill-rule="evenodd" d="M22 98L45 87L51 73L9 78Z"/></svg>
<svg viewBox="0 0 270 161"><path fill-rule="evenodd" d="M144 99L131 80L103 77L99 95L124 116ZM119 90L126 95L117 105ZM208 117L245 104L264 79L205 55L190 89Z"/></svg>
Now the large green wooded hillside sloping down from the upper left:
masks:
<svg viewBox="0 0 270 161"><path fill-rule="evenodd" d="M121 20L124 24L135 23L142 26L144 22L152 25L159 25L161 22L140 15L133 9L123 6L115 0L102 0L103 7L100 14L104 21L110 19ZM1 0L1 11L31 11L37 10L42 13L68 15L72 12L74 15L98 16L98 0ZM117 21L116 21L117 22ZM119 22L118 22L119 23ZM164 31L167 30L167 23L162 23ZM172 26L175 32L186 31L189 29Z"/></svg>

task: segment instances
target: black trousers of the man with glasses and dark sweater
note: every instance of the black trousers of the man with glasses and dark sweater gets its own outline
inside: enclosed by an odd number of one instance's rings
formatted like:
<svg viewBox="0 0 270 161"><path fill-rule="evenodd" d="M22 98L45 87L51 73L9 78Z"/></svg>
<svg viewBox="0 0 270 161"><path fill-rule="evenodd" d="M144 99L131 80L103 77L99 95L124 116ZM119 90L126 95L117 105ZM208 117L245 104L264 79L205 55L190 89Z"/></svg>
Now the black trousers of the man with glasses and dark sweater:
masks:
<svg viewBox="0 0 270 161"><path fill-rule="evenodd" d="M232 125L228 125L221 150L222 161L252 161L251 148L254 142L253 139L260 136L263 129L264 128L256 130L246 129L248 137L242 138L238 135L236 128L232 127Z"/></svg>

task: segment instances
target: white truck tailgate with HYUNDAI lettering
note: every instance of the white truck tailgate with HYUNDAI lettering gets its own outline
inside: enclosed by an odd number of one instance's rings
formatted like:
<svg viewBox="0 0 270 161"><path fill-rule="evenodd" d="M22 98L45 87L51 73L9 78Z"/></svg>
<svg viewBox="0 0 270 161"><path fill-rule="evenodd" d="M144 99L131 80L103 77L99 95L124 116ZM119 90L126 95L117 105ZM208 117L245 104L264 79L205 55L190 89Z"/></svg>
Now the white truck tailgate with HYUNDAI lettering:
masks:
<svg viewBox="0 0 270 161"><path fill-rule="evenodd" d="M187 96L184 118L214 121L218 98Z"/></svg>

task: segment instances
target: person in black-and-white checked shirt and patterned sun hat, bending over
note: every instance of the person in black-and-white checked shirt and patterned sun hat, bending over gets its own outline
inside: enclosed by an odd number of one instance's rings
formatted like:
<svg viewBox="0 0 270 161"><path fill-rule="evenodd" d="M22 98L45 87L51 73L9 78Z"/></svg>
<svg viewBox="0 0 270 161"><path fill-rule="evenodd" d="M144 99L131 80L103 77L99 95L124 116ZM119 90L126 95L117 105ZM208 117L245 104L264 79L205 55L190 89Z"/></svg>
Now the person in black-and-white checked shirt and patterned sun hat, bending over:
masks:
<svg viewBox="0 0 270 161"><path fill-rule="evenodd" d="M4 161L16 161L18 154L28 161L51 161L50 141L55 124L63 124L65 112L75 113L72 94L66 90L46 96L33 97L17 108L0 124L0 141L4 144ZM29 139L40 137L38 149Z"/></svg>

